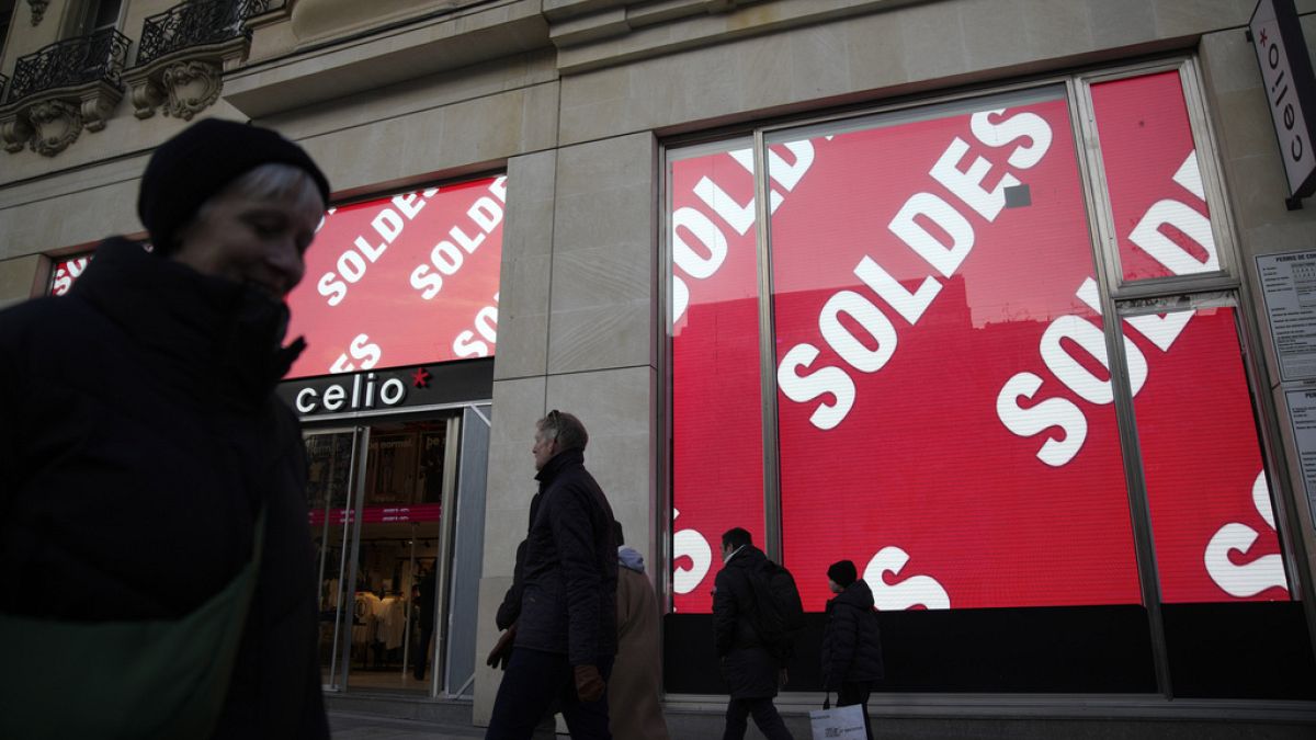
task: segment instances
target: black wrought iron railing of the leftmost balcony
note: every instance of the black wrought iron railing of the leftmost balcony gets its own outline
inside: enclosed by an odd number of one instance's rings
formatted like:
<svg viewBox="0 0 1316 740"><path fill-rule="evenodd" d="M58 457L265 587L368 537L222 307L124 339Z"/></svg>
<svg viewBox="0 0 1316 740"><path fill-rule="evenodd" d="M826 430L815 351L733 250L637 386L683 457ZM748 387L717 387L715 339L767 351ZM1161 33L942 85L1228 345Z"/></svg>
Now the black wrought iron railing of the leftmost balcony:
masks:
<svg viewBox="0 0 1316 740"><path fill-rule="evenodd" d="M126 36L108 28L18 57L7 100L12 103L34 92L99 80L121 90L120 72L130 43Z"/></svg>

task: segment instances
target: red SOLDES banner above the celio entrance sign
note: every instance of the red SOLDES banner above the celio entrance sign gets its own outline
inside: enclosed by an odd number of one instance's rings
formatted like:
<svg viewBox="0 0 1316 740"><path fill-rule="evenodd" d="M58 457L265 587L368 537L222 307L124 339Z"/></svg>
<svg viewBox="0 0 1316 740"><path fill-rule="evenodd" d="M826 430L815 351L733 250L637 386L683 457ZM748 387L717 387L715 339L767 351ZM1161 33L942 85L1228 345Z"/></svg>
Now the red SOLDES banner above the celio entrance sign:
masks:
<svg viewBox="0 0 1316 740"><path fill-rule="evenodd" d="M507 178L330 209L288 296L288 378L490 357Z"/></svg>

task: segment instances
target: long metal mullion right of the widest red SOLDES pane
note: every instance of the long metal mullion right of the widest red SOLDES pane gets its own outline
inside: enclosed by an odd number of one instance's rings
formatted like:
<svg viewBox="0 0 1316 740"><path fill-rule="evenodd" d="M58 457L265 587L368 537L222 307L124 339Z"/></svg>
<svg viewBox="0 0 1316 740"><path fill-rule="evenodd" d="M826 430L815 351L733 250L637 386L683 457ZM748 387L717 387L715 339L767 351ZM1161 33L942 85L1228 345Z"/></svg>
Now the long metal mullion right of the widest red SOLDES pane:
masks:
<svg viewBox="0 0 1316 740"><path fill-rule="evenodd" d="M1146 482L1142 475L1142 452L1137 438L1137 424L1133 413L1133 391L1124 356L1124 332L1112 284L1117 286L1121 273L1119 259L1119 238L1115 230L1115 216L1108 198L1109 190L1105 170L1101 166L1101 150L1096 137L1096 117L1092 107L1091 88L1086 80L1070 80L1070 116L1074 137L1079 144L1079 175L1086 183L1088 225L1092 242L1098 245L1096 284L1101 302L1101 332L1105 336L1105 354L1111 371L1111 387L1115 395L1115 421L1120 437L1120 456L1124 461L1124 481L1129 503L1129 519L1133 525L1134 558L1138 568L1138 586L1142 591L1142 606L1148 610L1148 629L1152 641L1153 666L1157 689L1165 697L1174 695L1170 681L1170 653L1165 639L1165 619L1161 612L1161 579L1157 570L1155 541L1152 533L1152 512L1148 504Z"/></svg>

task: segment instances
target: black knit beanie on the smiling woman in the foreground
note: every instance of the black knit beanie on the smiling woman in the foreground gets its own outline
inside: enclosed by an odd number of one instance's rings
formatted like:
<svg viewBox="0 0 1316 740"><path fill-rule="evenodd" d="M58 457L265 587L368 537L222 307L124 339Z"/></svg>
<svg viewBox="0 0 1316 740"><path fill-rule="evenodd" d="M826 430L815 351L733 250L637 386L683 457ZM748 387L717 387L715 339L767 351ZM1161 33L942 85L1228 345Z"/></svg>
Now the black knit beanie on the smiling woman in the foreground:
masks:
<svg viewBox="0 0 1316 740"><path fill-rule="evenodd" d="M162 144L142 174L137 215L151 234L155 254L178 249L176 234L212 195L247 171L279 162L305 170L329 203L329 180L296 144L276 132L205 119Z"/></svg>

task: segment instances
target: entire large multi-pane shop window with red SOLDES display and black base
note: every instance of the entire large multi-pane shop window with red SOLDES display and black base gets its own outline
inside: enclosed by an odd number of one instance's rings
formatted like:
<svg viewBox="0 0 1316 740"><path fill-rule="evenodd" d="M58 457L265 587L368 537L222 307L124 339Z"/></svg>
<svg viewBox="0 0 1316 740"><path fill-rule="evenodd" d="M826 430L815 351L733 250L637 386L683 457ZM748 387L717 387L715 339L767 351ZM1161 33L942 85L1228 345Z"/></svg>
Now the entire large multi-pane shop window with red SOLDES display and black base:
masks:
<svg viewBox="0 0 1316 740"><path fill-rule="evenodd" d="M720 535L745 527L811 612L828 565L858 565L887 690L1316 697L1267 657L1312 665L1191 70L669 151L669 643L700 639ZM1112 325L1120 286L1165 278L1219 300ZM1267 635L1204 665L1199 604ZM669 660L670 691L716 675Z"/></svg>

